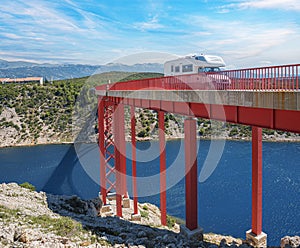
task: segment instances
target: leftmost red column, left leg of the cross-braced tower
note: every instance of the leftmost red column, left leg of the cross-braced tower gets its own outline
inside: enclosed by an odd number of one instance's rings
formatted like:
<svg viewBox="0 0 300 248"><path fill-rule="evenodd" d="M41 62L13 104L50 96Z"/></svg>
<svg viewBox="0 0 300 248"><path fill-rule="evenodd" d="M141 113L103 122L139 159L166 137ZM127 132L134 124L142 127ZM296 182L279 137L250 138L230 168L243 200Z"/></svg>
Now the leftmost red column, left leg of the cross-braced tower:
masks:
<svg viewBox="0 0 300 248"><path fill-rule="evenodd" d="M106 164L104 148L104 99L98 98L98 145L100 149L100 193L103 204L106 205Z"/></svg>

